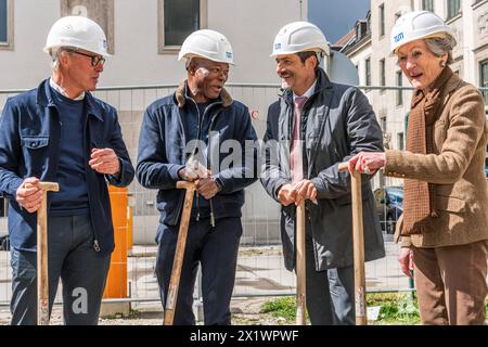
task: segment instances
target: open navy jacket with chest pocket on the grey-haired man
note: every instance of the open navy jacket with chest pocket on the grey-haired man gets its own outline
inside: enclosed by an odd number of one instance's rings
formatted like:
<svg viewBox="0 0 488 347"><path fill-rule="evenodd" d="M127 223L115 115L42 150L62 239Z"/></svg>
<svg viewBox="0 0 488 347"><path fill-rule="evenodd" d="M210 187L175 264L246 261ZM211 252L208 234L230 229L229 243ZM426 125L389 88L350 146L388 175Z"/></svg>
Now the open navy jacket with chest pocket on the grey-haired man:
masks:
<svg viewBox="0 0 488 347"><path fill-rule="evenodd" d="M85 103L88 114L85 147L90 215L94 240L101 253L110 254L114 249L114 228L106 181L125 187L132 181L134 172L115 108L89 92ZM10 200L9 233L11 246L16 249L35 250L37 244L37 214L30 214L17 204L17 188L27 177L56 181L60 138L60 116L49 80L7 101L0 118L0 194ZM115 151L120 162L117 177L98 174L89 167L90 149L94 146ZM48 193L48 214L49 194L52 193Z"/></svg>

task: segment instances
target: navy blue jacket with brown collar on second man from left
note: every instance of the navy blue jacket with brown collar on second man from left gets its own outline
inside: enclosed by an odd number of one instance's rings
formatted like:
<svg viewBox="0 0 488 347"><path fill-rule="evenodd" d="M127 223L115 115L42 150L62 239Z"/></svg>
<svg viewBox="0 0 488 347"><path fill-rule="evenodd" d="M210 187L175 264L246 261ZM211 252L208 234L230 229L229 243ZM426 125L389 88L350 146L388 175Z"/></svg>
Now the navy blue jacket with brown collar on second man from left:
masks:
<svg viewBox="0 0 488 347"><path fill-rule="evenodd" d="M151 189L158 189L157 209L162 223L178 223L183 205L184 191L176 189L180 179L178 171L184 167L188 147L182 118L196 113L194 101L187 97L185 83L166 98L151 104L145 111L139 136L139 154L136 175L139 182ZM245 105L233 101L222 89L220 99L209 105L210 127L207 167L213 168L214 178L221 191L211 198L215 218L241 217L244 205L244 188L257 180L256 132ZM218 132L218 137L215 136ZM226 140L237 141L247 156L241 155L240 163L232 167L215 170L226 163L229 153L221 147ZM227 150L228 151L228 150ZM229 158L228 158L229 159ZM205 163L202 163L205 164Z"/></svg>

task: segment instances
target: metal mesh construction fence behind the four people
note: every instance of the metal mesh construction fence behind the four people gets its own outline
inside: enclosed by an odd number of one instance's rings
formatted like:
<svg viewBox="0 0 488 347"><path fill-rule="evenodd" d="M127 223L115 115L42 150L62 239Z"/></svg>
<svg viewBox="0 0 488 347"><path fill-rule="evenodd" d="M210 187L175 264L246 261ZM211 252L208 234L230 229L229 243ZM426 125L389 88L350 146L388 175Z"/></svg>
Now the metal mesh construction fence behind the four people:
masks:
<svg viewBox="0 0 488 347"><path fill-rule="evenodd" d="M117 110L124 141L136 166L139 131L144 110L157 99L171 94L178 86L126 86L105 87L94 95ZM253 126L259 139L266 130L267 112L278 100L278 83L227 83L226 88L234 100L248 106ZM406 125L412 89L409 87L360 86L369 99L384 133L387 149L404 149ZM479 88L486 94L488 88ZM8 98L25 90L0 90L0 110ZM378 172L372 180L377 214L385 242L386 256L365 265L367 291L411 291L412 283L402 274L398 264L399 245L393 241L395 221L401 214L402 180L383 177ZM155 234L159 214L156 209L156 190L142 188L137 180L124 192L127 198L127 257L124 268L127 274L120 277L123 297L107 298L108 301L159 300L159 291L154 273L157 245ZM0 236L8 234L8 202L0 198ZM295 275L284 268L280 236L280 206L271 200L259 181L246 189L243 207L243 234L237 258L237 271L233 296L278 296L295 293ZM326 226L324 226L326 229ZM116 230L117 232L117 230ZM324 232L328 232L324 230ZM124 236L126 237L126 236ZM4 237L2 239L4 240ZM0 252L0 305L10 304L12 295L10 252ZM198 281L197 281L198 282ZM114 283L112 283L114 285ZM56 301L61 300L59 291ZM195 297L201 288L195 287Z"/></svg>

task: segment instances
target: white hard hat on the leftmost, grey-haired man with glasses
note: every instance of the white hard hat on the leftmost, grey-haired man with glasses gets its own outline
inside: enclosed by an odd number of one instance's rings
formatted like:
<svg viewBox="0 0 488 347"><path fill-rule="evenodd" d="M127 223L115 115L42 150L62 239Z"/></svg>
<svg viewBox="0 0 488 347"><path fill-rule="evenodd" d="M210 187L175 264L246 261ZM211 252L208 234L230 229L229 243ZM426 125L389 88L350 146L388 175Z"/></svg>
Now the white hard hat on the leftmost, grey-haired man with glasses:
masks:
<svg viewBox="0 0 488 347"><path fill-rule="evenodd" d="M100 55L108 56L106 37L95 22L78 15L57 20L49 30L44 52L51 54L53 49L74 47Z"/></svg>

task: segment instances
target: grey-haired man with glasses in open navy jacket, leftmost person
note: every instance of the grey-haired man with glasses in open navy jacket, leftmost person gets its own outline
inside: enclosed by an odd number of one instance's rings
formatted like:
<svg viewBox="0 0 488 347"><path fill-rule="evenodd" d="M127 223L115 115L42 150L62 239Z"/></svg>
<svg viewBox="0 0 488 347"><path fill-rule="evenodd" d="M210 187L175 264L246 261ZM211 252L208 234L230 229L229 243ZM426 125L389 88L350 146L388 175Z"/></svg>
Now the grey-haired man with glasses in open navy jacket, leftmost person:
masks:
<svg viewBox="0 0 488 347"><path fill-rule="evenodd" d="M39 181L60 184L48 195L49 309L63 283L64 322L97 324L114 248L107 184L133 178L114 107L95 99L106 39L81 16L62 17L44 51L52 75L7 101L0 118L0 194L10 198L12 324L36 324L36 211Z"/></svg>

